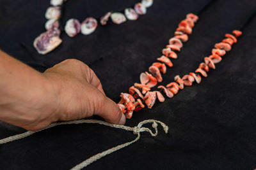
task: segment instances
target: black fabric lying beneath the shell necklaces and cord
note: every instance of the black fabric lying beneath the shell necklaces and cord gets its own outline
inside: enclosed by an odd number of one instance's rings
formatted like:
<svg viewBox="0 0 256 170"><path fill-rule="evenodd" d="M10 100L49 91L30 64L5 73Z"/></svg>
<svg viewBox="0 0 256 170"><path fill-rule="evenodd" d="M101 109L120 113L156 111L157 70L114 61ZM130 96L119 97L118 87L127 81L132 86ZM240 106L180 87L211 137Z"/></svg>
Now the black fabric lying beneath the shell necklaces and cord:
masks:
<svg viewBox="0 0 256 170"><path fill-rule="evenodd" d="M106 11L132 6L136 0L68 1L64 20L100 17ZM209 1L156 0L147 15L122 25L111 22L89 35L68 38L47 55L39 55L33 39L44 32L47 1L0 1L0 48L44 71L62 60L82 60L95 71L104 90L118 102L120 92L161 55L177 24ZM163 79L195 71L204 56L227 32L239 29L256 9L256 1L216 0L173 60ZM129 126L161 120L170 127L152 138L143 133L137 143L94 162L87 169L254 169L256 168L256 17L243 29L230 52L202 83L181 90L152 110L134 113ZM11 68L10 68L11 69ZM24 132L0 122L0 138ZM131 141L131 132L102 125L61 125L0 146L0 169L70 169L108 148Z"/></svg>

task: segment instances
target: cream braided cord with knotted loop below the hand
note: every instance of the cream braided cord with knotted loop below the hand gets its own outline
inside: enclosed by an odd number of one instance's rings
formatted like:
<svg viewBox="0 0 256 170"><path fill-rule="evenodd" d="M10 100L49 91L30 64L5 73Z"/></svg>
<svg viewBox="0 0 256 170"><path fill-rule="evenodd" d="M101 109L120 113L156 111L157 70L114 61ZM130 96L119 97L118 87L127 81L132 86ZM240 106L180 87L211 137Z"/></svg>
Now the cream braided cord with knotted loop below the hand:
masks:
<svg viewBox="0 0 256 170"><path fill-rule="evenodd" d="M148 124L148 123L152 123L152 127L154 128L155 132L152 132L147 127L142 127L144 124ZM110 149L108 149L104 152L93 155L89 159L86 159L83 162L81 162L80 164L77 164L77 166L74 166L72 168L72 170L83 169L84 167L92 164L92 162L95 162L96 160L101 159L102 157L104 157L106 155L109 155L110 153L116 152L117 150L120 150L120 149L122 149L126 146L131 145L132 143L135 143L136 141L138 141L140 139L140 132L149 132L151 134L151 136L157 136L157 134L158 134L157 124L160 124L163 127L163 130L166 134L168 133L168 126L166 124L164 124L163 122L160 122L158 120L143 120L142 122L140 122L135 127L129 127L129 126L125 126L125 125L109 124L108 122L103 122L103 121L100 121L100 120L74 120L74 121L69 121L69 122L57 122L57 123L49 125L49 127L46 127L45 129L49 129L49 128L54 127L56 125L68 125L68 124L100 124L100 125L106 125L106 126L109 126L109 127L118 128L118 129L124 129L125 131L132 131L133 134L137 135L137 138L130 141L130 142L124 143L122 145L115 146L115 147L110 148ZM45 129L42 129L40 131L43 131ZM36 131L36 132L40 132L40 131ZM22 138L26 138L26 137L30 136L31 134L34 134L34 133L35 132L28 131L28 132L24 132L22 134L17 134L17 135L14 135L14 136L10 136L8 138L0 139L0 145L4 144L4 143L9 143L11 141L19 140L19 139L22 139Z"/></svg>

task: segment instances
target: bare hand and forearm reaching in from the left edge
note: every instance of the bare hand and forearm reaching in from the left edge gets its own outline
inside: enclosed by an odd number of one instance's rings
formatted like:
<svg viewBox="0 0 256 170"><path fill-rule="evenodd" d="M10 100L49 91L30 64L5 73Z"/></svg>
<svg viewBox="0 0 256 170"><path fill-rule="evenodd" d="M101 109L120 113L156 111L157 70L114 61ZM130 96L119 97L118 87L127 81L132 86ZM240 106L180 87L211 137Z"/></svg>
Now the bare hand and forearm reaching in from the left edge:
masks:
<svg viewBox="0 0 256 170"><path fill-rule="evenodd" d="M39 73L0 50L0 120L28 131L52 122L99 115L125 124L117 104L106 97L99 78L83 62L68 59Z"/></svg>

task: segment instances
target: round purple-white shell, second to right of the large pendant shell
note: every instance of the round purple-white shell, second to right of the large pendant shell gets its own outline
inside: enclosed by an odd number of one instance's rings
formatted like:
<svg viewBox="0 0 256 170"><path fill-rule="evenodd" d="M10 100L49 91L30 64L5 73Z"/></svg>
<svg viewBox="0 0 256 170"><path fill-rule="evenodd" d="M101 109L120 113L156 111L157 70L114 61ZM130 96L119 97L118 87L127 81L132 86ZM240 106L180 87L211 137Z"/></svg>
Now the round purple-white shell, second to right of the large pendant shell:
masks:
<svg viewBox="0 0 256 170"><path fill-rule="evenodd" d="M98 26L97 20L93 17L86 18L81 24L81 33L84 35L92 34Z"/></svg>

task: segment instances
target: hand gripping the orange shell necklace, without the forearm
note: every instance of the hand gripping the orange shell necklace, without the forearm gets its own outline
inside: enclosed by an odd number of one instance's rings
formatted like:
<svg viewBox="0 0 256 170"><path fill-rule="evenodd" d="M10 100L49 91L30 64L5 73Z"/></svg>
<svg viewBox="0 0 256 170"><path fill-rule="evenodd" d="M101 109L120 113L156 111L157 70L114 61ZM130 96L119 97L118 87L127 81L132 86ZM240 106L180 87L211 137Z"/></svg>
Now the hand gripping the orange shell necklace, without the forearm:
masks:
<svg viewBox="0 0 256 170"><path fill-rule="evenodd" d="M109 123L125 124L125 116L120 108L106 97L99 78L83 62L68 59L43 74L57 92L54 114L58 120L78 120L99 115Z"/></svg>

